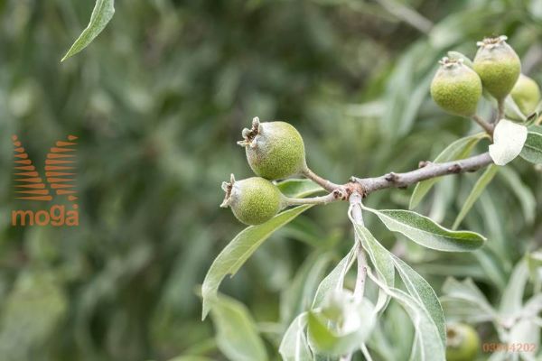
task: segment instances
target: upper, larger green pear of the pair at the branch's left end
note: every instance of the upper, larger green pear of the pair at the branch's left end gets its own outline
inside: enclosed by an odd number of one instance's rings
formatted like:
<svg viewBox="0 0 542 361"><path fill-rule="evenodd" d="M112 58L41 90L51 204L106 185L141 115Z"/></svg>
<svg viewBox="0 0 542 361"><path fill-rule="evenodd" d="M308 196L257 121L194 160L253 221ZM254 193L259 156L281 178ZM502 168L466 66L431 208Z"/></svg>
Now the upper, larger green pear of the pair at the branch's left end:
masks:
<svg viewBox="0 0 542 361"><path fill-rule="evenodd" d="M260 123L255 117L238 144L245 147L252 171L267 180L288 178L306 168L303 138L288 123Z"/></svg>

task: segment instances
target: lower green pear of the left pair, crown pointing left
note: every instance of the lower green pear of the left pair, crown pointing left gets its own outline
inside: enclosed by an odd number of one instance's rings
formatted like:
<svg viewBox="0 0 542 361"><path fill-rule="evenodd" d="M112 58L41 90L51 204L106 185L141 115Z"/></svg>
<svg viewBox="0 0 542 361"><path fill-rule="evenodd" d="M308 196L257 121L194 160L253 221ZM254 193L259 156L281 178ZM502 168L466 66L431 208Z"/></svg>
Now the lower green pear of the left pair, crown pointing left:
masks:
<svg viewBox="0 0 542 361"><path fill-rule="evenodd" d="M259 225L276 216L285 206L284 196L269 180L252 177L222 183L226 197L220 207L231 208L239 221L246 225Z"/></svg>

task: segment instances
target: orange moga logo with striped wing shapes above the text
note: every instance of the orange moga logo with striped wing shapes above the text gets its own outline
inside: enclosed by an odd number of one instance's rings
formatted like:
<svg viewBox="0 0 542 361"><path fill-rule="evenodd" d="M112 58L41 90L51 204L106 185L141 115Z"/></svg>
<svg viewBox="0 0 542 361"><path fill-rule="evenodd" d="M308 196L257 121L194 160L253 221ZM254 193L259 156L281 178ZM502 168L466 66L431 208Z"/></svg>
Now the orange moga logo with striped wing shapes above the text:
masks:
<svg viewBox="0 0 542 361"><path fill-rule="evenodd" d="M16 135L14 142L14 188L15 199L51 201L55 196L65 197L71 203L70 210L64 205L52 205L49 210L12 210L13 226L79 226L78 205L75 203L75 146L77 136L68 135L67 141L58 141L51 147L45 161L45 179L49 188L36 170L23 144ZM55 197L58 199L59 197Z"/></svg>

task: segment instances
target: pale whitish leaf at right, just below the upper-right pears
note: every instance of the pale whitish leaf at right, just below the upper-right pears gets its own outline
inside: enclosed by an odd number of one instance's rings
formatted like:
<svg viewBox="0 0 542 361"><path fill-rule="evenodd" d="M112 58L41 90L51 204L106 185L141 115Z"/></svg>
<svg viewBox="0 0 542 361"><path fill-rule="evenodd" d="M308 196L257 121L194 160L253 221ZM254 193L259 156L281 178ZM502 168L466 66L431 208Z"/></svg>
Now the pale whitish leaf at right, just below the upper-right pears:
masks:
<svg viewBox="0 0 542 361"><path fill-rule="evenodd" d="M523 149L527 140L527 127L501 119L493 132L493 143L490 145L491 159L497 165L512 162Z"/></svg>

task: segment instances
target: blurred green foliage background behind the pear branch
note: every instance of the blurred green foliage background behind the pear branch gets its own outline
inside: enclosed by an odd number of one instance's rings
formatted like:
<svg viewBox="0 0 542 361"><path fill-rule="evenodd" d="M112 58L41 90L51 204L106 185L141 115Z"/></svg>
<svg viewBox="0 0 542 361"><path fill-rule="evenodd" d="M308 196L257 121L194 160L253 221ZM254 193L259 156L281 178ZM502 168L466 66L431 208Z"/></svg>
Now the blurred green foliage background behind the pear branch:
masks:
<svg viewBox="0 0 542 361"><path fill-rule="evenodd" d="M313 170L344 181L416 168L475 131L429 98L446 51L472 57L482 37L507 34L542 82L540 0L121 0L97 41L61 63L93 3L0 0L5 361L223 359L197 287L243 228L218 207L220 182L250 175L235 142L253 116L295 125ZM12 134L38 166L54 141L79 136L79 227L11 226L23 208ZM367 223L437 293L444 276L471 276L498 300L511 266L542 243L541 173L521 160L513 168L463 222L490 238L474 255L421 250ZM421 211L451 226L475 180L440 182ZM379 192L369 206L407 208L410 192ZM318 284L311 275L350 248L345 211L307 212L221 288L248 305L276 358Z"/></svg>

